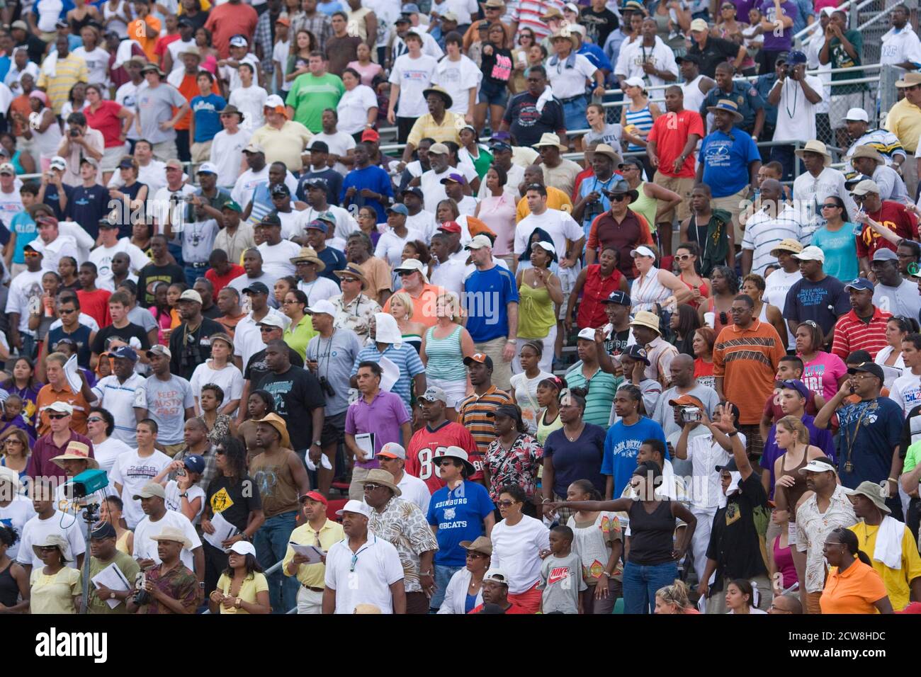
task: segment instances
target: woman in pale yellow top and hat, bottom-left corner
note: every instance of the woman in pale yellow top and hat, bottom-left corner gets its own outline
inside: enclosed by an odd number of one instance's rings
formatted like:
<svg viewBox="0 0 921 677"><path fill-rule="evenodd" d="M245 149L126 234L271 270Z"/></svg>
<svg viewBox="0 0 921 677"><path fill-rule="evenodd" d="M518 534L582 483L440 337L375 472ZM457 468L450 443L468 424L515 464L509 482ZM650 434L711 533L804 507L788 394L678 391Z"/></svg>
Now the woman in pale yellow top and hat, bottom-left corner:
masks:
<svg viewBox="0 0 921 677"><path fill-rule="evenodd" d="M64 536L50 533L32 550L45 566L32 569L29 613L77 613L83 587L79 569L67 566L70 548Z"/></svg>

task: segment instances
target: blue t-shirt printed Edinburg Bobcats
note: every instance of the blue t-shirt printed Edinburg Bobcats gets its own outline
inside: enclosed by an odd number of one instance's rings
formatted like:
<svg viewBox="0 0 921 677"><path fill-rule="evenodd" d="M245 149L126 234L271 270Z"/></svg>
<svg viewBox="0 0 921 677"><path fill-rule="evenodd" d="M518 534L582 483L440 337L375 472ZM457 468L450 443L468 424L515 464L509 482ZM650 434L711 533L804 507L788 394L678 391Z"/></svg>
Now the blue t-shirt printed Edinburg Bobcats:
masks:
<svg viewBox="0 0 921 677"><path fill-rule="evenodd" d="M475 541L484 535L483 520L495 506L483 484L464 480L454 491L443 486L432 494L428 504L428 523L438 527L435 564L464 566L467 551L461 541Z"/></svg>

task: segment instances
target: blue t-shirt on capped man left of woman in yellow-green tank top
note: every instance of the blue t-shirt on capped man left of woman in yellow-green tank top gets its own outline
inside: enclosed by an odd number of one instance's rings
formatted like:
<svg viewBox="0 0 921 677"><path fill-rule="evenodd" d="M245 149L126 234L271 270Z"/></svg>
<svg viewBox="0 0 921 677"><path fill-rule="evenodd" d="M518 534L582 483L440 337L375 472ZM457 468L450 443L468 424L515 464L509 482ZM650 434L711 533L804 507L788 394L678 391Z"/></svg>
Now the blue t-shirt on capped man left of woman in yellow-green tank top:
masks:
<svg viewBox="0 0 921 677"><path fill-rule="evenodd" d="M507 336L507 304L518 303L518 286L507 268L494 265L489 270L475 270L463 281L463 290L467 331L473 343Z"/></svg>

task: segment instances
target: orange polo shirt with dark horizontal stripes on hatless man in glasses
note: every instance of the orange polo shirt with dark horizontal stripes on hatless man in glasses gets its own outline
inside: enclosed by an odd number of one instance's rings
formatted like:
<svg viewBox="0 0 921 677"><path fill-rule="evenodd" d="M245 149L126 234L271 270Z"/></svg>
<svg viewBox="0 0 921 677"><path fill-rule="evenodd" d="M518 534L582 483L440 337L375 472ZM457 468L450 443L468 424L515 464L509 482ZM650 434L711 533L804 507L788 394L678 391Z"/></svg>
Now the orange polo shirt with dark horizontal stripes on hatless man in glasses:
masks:
<svg viewBox="0 0 921 677"><path fill-rule="evenodd" d="M752 320L746 329L724 327L713 346L713 375L723 377L723 394L739 407L739 423L754 426L761 421L764 403L774 392L774 376L780 358L787 355L770 322Z"/></svg>

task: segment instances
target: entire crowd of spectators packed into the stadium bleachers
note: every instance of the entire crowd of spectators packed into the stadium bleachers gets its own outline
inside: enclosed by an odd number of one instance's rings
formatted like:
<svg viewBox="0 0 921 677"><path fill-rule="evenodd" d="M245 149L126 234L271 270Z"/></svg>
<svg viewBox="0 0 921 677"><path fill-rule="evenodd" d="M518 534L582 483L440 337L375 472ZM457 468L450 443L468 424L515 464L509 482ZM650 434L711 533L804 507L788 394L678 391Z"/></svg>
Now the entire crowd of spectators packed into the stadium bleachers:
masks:
<svg viewBox="0 0 921 677"><path fill-rule="evenodd" d="M0 613L921 610L906 7L0 17Z"/></svg>

